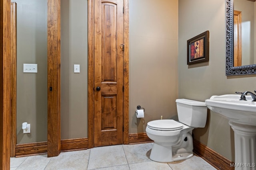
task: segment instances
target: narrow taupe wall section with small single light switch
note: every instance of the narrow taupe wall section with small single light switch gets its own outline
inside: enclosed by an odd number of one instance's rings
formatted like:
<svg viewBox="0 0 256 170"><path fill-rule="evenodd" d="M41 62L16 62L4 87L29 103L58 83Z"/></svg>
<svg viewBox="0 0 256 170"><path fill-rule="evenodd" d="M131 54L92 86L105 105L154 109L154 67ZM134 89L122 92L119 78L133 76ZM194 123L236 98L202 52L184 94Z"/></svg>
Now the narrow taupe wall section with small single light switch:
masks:
<svg viewBox="0 0 256 170"><path fill-rule="evenodd" d="M87 6L61 0L61 139L87 137Z"/></svg>

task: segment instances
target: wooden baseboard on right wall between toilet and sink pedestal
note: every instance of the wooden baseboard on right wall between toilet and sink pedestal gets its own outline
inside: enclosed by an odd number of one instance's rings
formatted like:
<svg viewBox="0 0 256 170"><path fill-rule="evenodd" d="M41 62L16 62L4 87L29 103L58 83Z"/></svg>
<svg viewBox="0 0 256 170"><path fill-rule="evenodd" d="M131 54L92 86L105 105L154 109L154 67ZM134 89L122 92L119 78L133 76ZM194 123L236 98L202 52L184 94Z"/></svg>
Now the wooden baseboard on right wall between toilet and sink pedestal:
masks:
<svg viewBox="0 0 256 170"><path fill-rule="evenodd" d="M230 167L230 164L234 163L231 160L228 160L221 154L218 154L195 139L193 140L193 145L193 151L198 154L198 156L206 160L206 162L214 166L214 168L218 170L234 170L234 167Z"/></svg>

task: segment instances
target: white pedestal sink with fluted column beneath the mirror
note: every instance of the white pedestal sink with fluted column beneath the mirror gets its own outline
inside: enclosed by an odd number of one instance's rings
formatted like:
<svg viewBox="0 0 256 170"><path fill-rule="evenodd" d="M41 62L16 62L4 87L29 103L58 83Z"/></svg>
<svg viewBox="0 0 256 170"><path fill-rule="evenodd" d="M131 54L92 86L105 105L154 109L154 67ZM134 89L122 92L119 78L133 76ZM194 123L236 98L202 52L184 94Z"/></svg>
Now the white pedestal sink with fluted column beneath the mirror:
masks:
<svg viewBox="0 0 256 170"><path fill-rule="evenodd" d="M256 102L252 102L251 96L246 99L226 94L205 100L210 110L228 118L234 130L235 170L256 169Z"/></svg>

